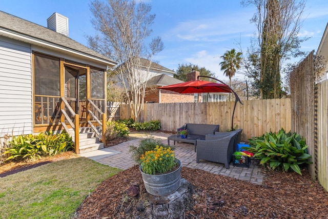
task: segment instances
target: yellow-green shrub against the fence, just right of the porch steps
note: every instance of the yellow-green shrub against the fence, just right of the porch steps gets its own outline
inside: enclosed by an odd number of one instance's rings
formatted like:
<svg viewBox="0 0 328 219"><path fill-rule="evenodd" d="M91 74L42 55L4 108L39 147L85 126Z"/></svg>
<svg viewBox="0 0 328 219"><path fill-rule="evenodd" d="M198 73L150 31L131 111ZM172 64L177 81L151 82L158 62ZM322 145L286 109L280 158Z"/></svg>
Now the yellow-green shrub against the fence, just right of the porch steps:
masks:
<svg viewBox="0 0 328 219"><path fill-rule="evenodd" d="M106 122L106 140L114 140L119 137L124 137L129 134L129 128L126 124L118 121Z"/></svg>

